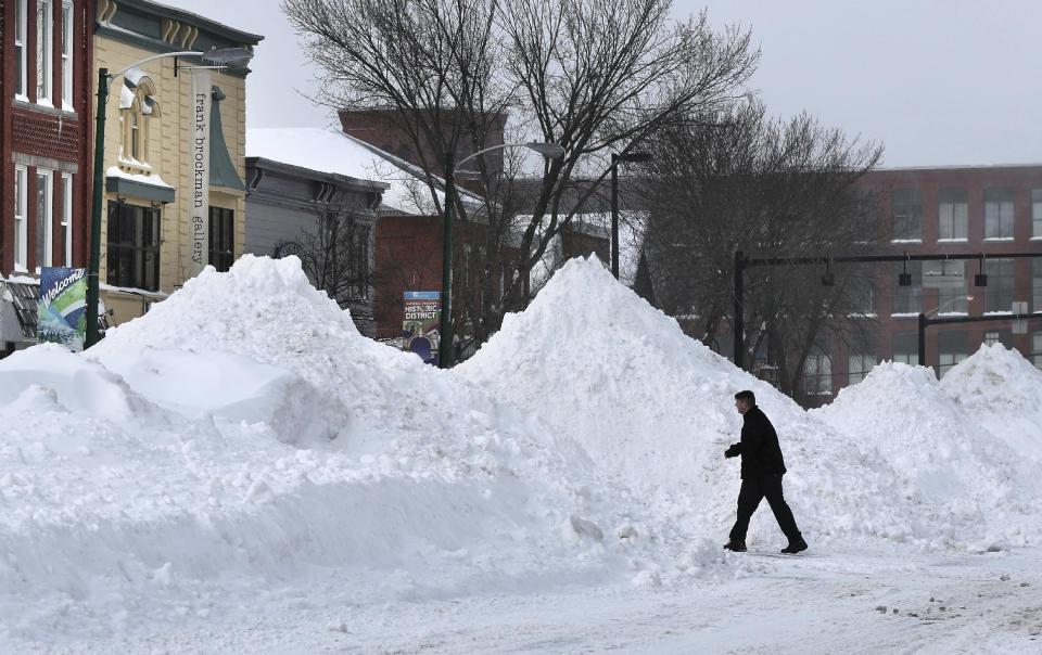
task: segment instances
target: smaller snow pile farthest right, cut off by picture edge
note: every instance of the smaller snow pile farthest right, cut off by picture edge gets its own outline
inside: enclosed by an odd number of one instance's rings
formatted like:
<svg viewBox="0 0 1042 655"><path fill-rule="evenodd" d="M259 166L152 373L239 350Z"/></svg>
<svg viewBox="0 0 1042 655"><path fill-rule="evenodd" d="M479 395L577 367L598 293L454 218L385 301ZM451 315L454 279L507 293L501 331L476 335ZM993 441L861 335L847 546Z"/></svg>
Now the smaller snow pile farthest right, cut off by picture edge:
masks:
<svg viewBox="0 0 1042 655"><path fill-rule="evenodd" d="M1042 371L1019 351L982 344L941 388L1020 455L1042 462Z"/></svg>

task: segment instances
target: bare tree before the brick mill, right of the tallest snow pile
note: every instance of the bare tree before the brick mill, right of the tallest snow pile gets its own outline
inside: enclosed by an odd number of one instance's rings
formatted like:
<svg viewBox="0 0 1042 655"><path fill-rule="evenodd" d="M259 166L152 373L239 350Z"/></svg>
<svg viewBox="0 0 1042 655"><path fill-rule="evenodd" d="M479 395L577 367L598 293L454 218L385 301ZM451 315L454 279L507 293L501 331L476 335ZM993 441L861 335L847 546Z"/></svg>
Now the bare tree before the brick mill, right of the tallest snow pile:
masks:
<svg viewBox="0 0 1042 655"><path fill-rule="evenodd" d="M881 147L805 114L772 120L761 104L742 103L675 124L650 147L645 243L660 282L655 299L708 344L730 322L736 251L828 257L881 244L873 198L857 188ZM853 266L748 269L742 347L767 350L779 387L808 400L806 362L821 343L867 338L869 278Z"/></svg>

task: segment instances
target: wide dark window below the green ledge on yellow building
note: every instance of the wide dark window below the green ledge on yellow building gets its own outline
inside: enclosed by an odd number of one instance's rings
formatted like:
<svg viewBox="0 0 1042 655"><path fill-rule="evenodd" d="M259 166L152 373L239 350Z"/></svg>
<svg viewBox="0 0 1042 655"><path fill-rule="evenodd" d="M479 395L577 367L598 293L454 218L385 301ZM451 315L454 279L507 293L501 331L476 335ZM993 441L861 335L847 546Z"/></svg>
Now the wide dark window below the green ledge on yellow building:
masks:
<svg viewBox="0 0 1042 655"><path fill-rule="evenodd" d="M109 203L107 265L109 284L158 291L158 209Z"/></svg>

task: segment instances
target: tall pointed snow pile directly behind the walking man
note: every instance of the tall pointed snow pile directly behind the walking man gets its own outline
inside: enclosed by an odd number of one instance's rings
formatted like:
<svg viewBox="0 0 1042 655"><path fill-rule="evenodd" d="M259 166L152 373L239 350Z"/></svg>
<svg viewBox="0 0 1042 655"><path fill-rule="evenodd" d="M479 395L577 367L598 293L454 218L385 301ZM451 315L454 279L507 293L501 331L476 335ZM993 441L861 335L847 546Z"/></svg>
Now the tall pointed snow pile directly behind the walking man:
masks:
<svg viewBox="0 0 1042 655"><path fill-rule="evenodd" d="M739 485L737 461L723 458L741 427L734 394L752 389L780 435L786 493L810 539L926 535L871 442L844 438L687 337L593 257L563 266L457 370L538 412L623 484L717 539L734 521ZM753 522L751 543L783 539L768 514Z"/></svg>

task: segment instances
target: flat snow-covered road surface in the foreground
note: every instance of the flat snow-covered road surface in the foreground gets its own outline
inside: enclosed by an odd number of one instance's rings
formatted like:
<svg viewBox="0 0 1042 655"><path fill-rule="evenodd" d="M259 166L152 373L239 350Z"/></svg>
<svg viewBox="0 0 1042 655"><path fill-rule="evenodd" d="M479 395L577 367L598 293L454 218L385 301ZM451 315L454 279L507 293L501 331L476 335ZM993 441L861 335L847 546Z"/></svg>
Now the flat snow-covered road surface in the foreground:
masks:
<svg viewBox="0 0 1042 655"><path fill-rule="evenodd" d="M427 602L279 590L176 630L73 652L251 653L1037 653L1042 556L815 552L734 555L722 585L557 589ZM318 590L317 590L318 591ZM327 595L328 594L328 595Z"/></svg>

